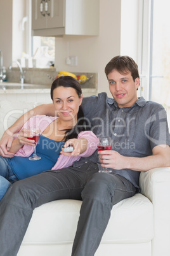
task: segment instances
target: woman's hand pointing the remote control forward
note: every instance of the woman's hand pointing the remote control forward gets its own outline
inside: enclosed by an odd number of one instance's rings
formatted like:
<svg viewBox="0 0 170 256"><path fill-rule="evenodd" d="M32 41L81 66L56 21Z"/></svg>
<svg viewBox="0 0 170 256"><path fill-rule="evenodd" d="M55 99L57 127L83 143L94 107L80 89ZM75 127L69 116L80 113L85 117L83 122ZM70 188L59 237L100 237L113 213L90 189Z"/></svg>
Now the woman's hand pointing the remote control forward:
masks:
<svg viewBox="0 0 170 256"><path fill-rule="evenodd" d="M88 140L81 138L81 139L69 139L66 141L64 148L67 148L67 146L72 146L74 148L73 152L66 153L62 151L60 152L62 155L66 155L67 157L77 157L77 155L80 155L86 149L88 148Z"/></svg>

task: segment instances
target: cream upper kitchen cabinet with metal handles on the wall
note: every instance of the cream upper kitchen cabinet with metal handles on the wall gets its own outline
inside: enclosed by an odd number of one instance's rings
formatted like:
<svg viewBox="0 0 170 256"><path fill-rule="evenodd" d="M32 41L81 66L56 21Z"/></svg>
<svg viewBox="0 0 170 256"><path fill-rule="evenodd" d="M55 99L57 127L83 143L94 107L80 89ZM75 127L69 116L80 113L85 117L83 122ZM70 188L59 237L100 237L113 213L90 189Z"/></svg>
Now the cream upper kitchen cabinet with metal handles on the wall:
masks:
<svg viewBox="0 0 170 256"><path fill-rule="evenodd" d="M97 36L100 0L32 0L32 36Z"/></svg>

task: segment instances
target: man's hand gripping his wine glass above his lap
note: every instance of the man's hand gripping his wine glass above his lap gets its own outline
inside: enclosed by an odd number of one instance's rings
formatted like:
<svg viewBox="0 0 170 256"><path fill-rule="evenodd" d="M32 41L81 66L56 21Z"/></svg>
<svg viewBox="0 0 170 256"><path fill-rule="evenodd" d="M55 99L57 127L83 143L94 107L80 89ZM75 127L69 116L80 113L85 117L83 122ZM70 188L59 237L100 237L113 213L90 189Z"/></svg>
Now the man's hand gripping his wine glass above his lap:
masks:
<svg viewBox="0 0 170 256"><path fill-rule="evenodd" d="M126 157L114 150L103 150L98 152L101 167L121 170L126 167Z"/></svg>

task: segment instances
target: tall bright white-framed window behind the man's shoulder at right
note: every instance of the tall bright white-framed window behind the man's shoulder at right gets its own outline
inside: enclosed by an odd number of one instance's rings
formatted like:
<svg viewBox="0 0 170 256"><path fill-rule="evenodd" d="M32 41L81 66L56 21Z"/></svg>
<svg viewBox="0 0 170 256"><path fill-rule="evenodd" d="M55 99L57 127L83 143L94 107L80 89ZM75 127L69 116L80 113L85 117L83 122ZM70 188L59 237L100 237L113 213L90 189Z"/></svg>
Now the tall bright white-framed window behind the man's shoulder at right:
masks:
<svg viewBox="0 0 170 256"><path fill-rule="evenodd" d="M143 0L141 95L164 106L170 125L169 8L169 0Z"/></svg>

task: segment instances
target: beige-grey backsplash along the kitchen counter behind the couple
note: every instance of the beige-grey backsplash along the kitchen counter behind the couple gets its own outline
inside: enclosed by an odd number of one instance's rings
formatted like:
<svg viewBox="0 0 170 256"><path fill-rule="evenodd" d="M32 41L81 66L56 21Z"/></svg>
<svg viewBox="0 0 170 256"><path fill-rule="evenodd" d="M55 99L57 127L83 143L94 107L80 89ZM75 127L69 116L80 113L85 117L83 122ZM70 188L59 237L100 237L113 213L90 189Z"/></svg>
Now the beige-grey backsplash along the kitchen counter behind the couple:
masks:
<svg viewBox="0 0 170 256"><path fill-rule="evenodd" d="M58 71L55 68L49 69L34 69L34 68L23 68L25 81L24 83L33 83L39 85L46 85L46 88L51 87L51 83L53 79L58 75ZM93 76L90 80L87 80L86 83L82 83L82 89L97 89L98 85L98 74L97 73L74 73L76 76L78 75L86 75L88 78ZM49 79L51 77L51 79ZM18 68L12 68L7 71L7 80L8 82L20 82L20 71Z"/></svg>

